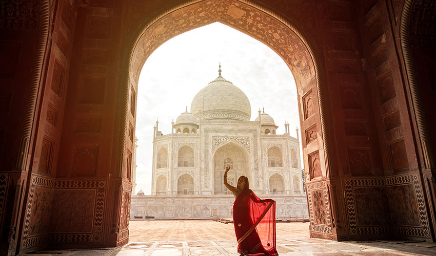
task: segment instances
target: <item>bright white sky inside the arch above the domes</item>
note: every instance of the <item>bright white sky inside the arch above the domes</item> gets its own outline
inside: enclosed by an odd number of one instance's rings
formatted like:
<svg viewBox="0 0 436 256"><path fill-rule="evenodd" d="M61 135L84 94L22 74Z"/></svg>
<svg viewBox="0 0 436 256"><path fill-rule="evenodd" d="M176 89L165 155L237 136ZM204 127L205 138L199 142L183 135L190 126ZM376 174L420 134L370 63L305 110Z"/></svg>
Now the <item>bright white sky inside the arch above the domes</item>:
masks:
<svg viewBox="0 0 436 256"><path fill-rule="evenodd" d="M262 42L221 23L176 36L146 60L138 81L136 193L151 195L153 126L171 133L171 121L185 112L194 96L221 75L241 89L251 103L251 121L265 108L284 134L300 129L295 80L283 59ZM301 136L301 131L299 131ZM301 142L300 142L301 151ZM302 153L300 153L302 156Z"/></svg>

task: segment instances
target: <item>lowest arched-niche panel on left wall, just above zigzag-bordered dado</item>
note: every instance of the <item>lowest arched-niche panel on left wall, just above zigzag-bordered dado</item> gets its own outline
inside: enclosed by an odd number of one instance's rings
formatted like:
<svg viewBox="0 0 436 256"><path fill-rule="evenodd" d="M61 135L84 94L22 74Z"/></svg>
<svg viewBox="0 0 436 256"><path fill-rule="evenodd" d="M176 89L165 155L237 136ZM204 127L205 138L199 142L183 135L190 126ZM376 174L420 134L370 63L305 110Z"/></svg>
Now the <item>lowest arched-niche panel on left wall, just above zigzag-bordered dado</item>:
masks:
<svg viewBox="0 0 436 256"><path fill-rule="evenodd" d="M78 147L74 150L72 175L95 176L98 147Z"/></svg>

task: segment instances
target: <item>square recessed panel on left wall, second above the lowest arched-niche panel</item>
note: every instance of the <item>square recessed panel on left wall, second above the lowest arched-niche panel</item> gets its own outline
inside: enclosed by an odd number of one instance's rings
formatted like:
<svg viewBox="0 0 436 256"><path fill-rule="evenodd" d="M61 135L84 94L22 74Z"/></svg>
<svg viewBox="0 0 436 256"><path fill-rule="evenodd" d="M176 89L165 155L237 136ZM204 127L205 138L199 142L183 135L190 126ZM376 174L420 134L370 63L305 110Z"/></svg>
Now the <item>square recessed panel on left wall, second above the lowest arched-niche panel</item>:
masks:
<svg viewBox="0 0 436 256"><path fill-rule="evenodd" d="M80 103L102 104L105 95L104 77L83 78L82 91L80 92Z"/></svg>

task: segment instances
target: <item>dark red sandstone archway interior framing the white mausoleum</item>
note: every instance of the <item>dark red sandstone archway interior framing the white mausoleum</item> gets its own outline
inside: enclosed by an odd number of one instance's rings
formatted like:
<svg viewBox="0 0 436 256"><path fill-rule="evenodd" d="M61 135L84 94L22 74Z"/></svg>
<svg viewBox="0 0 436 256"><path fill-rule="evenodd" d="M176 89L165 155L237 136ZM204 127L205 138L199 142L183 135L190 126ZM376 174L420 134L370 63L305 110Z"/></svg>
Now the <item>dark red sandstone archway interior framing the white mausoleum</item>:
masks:
<svg viewBox="0 0 436 256"><path fill-rule="evenodd" d="M212 22L262 41L294 74L311 237L435 240L433 2L4 8L2 254L128 242L137 77L163 42Z"/></svg>

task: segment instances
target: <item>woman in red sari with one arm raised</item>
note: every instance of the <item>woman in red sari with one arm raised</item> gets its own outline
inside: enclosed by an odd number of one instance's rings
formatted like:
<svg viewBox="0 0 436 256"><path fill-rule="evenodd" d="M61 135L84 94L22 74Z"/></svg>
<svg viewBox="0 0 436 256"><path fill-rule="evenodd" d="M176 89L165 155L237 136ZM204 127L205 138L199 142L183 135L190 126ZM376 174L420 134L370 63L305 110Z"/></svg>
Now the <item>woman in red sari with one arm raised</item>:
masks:
<svg viewBox="0 0 436 256"><path fill-rule="evenodd" d="M249 188L248 178L241 176L236 187L227 183L226 168L224 185L232 191L233 224L240 255L279 255L275 249L275 201L261 200ZM262 255L262 254L261 254Z"/></svg>

